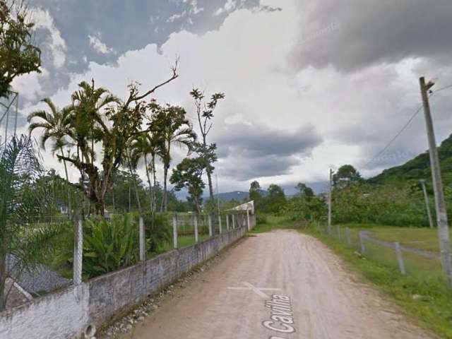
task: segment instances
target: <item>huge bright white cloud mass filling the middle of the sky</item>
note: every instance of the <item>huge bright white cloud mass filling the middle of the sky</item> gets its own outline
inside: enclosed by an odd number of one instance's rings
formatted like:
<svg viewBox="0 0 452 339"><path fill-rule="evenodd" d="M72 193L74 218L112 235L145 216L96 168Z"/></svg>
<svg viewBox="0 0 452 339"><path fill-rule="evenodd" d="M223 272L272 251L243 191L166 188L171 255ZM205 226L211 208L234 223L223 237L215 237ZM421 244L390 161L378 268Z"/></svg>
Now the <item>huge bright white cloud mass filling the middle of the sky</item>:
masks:
<svg viewBox="0 0 452 339"><path fill-rule="evenodd" d="M162 102L183 105L194 117L189 97L193 85L205 89L208 95L224 92L226 99L215 112L210 141L219 140L228 133L225 125L237 121L287 134L316 129L323 136L323 143L310 154L294 152L287 161L290 168L283 174L280 170L257 171L266 162L275 165L272 163L275 158L270 156L262 157L262 161L249 161L246 156L220 159L216 167L221 174L222 191L248 189L249 180L242 180L234 172L237 168L252 172L256 167L256 173L265 173L265 177L258 177L263 185L325 180L328 167L345 163L362 165L403 126L419 104L417 78L427 61L405 59L359 73L340 73L332 67L293 71L287 60L299 41L299 31L303 30L297 3L297 0L266 1L265 5L276 4L284 10L236 10L218 30L203 35L173 33L160 49L150 44L127 52L119 57L116 66L91 63L87 73L74 74L69 88L60 90L53 98L59 105L66 105L76 84L90 78L95 78L96 85L124 97L130 81L142 83L144 89L165 80L169 64L179 55L180 78L158 90L156 97ZM446 76L452 74L451 69L437 71L444 74L441 81L445 85L452 83L452 76ZM450 133L452 117L436 105L451 100L446 95L439 95L437 100L432 106L439 111L437 138L441 140ZM418 153L426 148L423 121L417 119L390 152ZM174 163L183 156L184 151L178 150ZM376 169L367 169L364 174L375 172Z"/></svg>

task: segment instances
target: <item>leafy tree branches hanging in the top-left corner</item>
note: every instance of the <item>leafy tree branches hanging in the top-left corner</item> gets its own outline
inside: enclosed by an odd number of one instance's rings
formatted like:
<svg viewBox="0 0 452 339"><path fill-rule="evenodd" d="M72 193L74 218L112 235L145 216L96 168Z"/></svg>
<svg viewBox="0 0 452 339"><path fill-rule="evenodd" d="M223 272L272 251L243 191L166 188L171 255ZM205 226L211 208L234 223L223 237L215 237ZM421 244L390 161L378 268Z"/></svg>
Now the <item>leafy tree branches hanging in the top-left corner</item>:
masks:
<svg viewBox="0 0 452 339"><path fill-rule="evenodd" d="M0 0L0 98L11 94L14 78L40 72L41 51L33 46L28 9L20 0Z"/></svg>

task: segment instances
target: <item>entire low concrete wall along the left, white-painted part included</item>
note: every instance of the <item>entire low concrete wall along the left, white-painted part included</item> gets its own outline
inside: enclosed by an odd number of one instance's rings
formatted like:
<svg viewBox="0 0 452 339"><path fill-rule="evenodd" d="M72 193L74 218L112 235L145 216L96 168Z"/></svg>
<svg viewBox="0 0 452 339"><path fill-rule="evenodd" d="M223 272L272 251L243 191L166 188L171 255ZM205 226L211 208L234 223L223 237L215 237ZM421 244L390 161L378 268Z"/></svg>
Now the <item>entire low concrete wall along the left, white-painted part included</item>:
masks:
<svg viewBox="0 0 452 339"><path fill-rule="evenodd" d="M0 313L0 338L81 338L244 236L244 227Z"/></svg>

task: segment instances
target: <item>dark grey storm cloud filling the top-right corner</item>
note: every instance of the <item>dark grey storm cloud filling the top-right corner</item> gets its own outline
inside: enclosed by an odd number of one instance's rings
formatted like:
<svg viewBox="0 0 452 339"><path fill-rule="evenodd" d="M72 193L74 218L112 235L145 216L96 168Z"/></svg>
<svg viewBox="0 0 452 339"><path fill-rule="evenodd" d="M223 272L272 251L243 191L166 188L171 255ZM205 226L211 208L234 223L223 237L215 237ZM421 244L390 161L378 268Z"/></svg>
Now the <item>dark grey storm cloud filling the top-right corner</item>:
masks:
<svg viewBox="0 0 452 339"><path fill-rule="evenodd" d="M302 31L290 61L354 71L424 57L448 63L452 1L303 1Z"/></svg>

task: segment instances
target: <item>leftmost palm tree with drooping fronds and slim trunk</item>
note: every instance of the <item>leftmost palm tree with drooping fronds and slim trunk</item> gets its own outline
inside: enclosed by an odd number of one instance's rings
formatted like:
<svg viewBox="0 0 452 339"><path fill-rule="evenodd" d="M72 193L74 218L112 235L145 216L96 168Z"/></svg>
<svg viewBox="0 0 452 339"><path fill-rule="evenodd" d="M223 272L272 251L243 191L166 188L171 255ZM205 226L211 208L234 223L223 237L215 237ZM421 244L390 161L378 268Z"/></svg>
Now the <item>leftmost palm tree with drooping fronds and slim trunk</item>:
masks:
<svg viewBox="0 0 452 339"><path fill-rule="evenodd" d="M71 106L66 106L63 109L59 109L54 102L49 98L42 100L49 111L45 111L44 109L32 112L28 115L28 122L32 119L39 118L40 122L34 122L28 126L28 130L30 134L35 129L44 129L44 134L41 136L41 147L45 150L45 144L49 139L53 139L54 145L52 147L52 153L56 153L57 150L60 151L61 156L64 156L63 148L65 145L68 145L68 141L66 137L70 135L71 130L71 119L73 109ZM68 167L66 165L66 160L63 160L64 164L64 172L66 174L66 182L69 184L69 175L68 175ZM69 216L71 216L71 194L69 192L69 186L67 189L68 194L68 210Z"/></svg>

